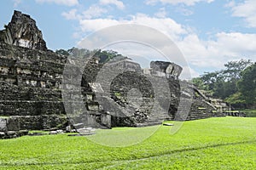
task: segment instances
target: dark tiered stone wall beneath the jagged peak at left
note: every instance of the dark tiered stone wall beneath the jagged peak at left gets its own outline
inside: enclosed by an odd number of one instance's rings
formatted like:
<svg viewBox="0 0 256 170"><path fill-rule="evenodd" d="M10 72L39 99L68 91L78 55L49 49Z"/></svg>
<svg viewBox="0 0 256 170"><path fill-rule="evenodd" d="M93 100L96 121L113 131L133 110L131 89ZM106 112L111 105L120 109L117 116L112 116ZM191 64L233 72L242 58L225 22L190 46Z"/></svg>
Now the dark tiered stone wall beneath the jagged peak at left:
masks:
<svg viewBox="0 0 256 170"><path fill-rule="evenodd" d="M67 123L61 102L65 61L65 57L49 50L0 43L0 115L11 116L8 130L61 127L60 123Z"/></svg>

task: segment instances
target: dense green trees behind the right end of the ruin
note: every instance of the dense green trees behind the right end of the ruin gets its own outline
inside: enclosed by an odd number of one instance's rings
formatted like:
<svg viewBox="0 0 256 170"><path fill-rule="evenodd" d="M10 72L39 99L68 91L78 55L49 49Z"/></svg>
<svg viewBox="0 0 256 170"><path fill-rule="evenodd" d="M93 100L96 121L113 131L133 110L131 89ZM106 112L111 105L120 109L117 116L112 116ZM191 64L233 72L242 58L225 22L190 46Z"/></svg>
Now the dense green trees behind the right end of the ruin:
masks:
<svg viewBox="0 0 256 170"><path fill-rule="evenodd" d="M241 59L230 61L224 70L206 72L192 82L214 98L224 99L233 108L256 107L256 63Z"/></svg>

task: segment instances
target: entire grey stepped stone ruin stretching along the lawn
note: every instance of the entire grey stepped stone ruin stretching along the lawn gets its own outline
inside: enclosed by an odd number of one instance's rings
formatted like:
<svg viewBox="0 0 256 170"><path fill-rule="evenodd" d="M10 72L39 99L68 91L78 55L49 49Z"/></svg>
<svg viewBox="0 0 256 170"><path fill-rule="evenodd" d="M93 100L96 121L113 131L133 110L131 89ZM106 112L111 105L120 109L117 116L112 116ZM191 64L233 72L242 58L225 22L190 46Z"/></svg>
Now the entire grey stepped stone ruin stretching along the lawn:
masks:
<svg viewBox="0 0 256 170"><path fill-rule="evenodd" d="M219 116L203 94L178 79L182 71L179 65L152 61L150 69L143 70L131 59L104 64L98 62L98 57L81 61L85 66L80 93L86 111L70 117L63 104L61 82L64 66L73 65L72 59L46 48L35 20L15 11L9 25L0 31L0 138L20 136L26 133L24 130L65 129L74 122L75 128L154 125L179 120L178 107L189 112L180 120ZM115 67L123 72L108 77ZM97 82L102 68L105 78ZM160 84L163 80L165 86ZM164 94L166 87L170 90ZM79 92L71 92L76 94ZM181 103L181 97L191 99L191 107Z"/></svg>

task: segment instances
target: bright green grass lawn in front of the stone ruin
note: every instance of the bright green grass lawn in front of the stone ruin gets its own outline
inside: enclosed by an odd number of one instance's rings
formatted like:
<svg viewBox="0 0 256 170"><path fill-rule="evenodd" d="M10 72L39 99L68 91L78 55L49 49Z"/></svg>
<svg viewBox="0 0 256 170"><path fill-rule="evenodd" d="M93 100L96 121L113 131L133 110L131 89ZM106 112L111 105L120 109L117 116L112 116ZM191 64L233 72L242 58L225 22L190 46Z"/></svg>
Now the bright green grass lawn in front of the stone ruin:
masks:
<svg viewBox="0 0 256 170"><path fill-rule="evenodd" d="M128 147L67 134L0 140L0 169L256 169L256 118L184 122L174 135L170 128Z"/></svg>

